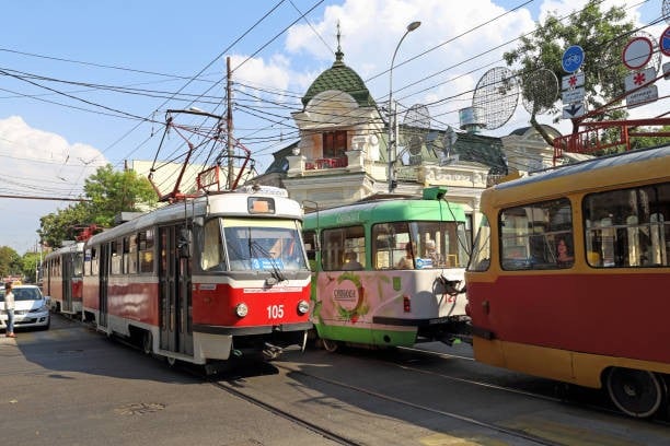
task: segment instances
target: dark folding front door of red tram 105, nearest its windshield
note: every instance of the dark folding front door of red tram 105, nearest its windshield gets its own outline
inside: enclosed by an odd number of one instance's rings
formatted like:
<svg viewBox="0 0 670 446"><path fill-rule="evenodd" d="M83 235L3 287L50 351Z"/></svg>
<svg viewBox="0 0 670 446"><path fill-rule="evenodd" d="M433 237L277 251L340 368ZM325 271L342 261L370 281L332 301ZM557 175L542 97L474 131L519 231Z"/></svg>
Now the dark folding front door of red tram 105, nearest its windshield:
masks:
<svg viewBox="0 0 670 446"><path fill-rule="evenodd" d="M159 228L161 349L193 355L190 262L183 225Z"/></svg>

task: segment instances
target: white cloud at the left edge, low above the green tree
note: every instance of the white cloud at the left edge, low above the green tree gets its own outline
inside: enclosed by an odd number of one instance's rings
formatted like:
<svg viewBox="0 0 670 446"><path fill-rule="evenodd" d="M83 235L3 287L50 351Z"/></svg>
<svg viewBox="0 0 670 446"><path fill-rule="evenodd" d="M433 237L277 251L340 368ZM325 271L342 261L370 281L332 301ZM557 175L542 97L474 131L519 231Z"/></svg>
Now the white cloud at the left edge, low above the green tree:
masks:
<svg viewBox="0 0 670 446"><path fill-rule="evenodd" d="M0 198L0 246L20 255L35 247L39 218L71 203L46 199L80 197L83 180L106 163L96 149L31 128L19 116L0 119L0 195L34 198Z"/></svg>

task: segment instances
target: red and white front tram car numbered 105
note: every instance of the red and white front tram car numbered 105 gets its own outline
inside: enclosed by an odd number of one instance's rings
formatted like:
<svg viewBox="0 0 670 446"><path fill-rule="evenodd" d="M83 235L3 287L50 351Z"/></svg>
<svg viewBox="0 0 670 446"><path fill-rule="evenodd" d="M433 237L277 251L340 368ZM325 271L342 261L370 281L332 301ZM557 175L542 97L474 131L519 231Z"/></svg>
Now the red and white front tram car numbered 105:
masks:
<svg viewBox="0 0 670 446"><path fill-rule="evenodd" d="M84 246L83 319L170 363L304 348L312 324L301 222L286 191L246 188L96 234Z"/></svg>

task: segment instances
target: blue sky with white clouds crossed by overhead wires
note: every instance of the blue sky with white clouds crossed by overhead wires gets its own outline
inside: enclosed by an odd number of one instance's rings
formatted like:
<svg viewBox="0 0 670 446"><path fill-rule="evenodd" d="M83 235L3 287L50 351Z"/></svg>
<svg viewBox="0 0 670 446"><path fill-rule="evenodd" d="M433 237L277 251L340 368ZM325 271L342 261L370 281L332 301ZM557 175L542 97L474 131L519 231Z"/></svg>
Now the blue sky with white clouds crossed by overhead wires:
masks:
<svg viewBox="0 0 670 446"><path fill-rule="evenodd" d="M657 39L668 26L668 0L604 3L626 5L629 20ZM310 84L332 66L338 42L344 62L361 77L379 105L389 98L389 68L397 48L392 85L398 109L423 104L432 128L458 129L458 110L472 105L472 92L486 72L505 67L503 52L513 49L521 34L532 31L547 11L565 15L584 4L585 0L3 2L0 246L20 255L37 249L39 218L72 204L68 200L82 196L84 179L102 165L122 169L135 160L178 162L185 134L213 124L211 118L175 110L195 107L223 115L228 58L233 136L251 152L256 172L263 173L274 152L296 141L291 113L301 109L300 98ZM414 21L421 25L397 46ZM670 93L669 85L661 81L661 99L632 109L632 117L667 111L662 97ZM509 120L484 134L504 136L529 125L520 102L501 113ZM168 116L188 130L165 133ZM569 132L568 120L553 119L543 115L539 120Z"/></svg>

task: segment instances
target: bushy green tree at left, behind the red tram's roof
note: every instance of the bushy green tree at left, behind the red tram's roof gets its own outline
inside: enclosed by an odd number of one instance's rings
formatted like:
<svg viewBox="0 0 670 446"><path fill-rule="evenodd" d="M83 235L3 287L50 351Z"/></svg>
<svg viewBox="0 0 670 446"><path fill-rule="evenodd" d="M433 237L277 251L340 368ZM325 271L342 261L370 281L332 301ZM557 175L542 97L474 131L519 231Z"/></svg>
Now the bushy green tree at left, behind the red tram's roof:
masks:
<svg viewBox="0 0 670 446"><path fill-rule="evenodd" d="M115 172L107 164L85 179L81 202L41 218L37 233L45 245L59 247L62 240L74 239L82 227L111 227L118 213L147 211L157 201L147 178L134 171Z"/></svg>

